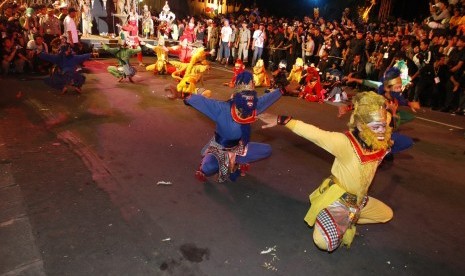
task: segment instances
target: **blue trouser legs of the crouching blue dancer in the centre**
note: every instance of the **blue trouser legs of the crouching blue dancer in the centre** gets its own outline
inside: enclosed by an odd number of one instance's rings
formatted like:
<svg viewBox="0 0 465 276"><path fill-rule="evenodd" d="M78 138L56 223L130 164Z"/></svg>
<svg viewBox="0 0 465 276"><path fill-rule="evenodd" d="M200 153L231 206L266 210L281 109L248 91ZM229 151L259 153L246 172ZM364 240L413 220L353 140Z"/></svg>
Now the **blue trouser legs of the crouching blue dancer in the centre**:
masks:
<svg viewBox="0 0 465 276"><path fill-rule="evenodd" d="M247 145L247 154L245 156L237 156L236 163L246 164L267 158L271 155L271 146L263 143L250 142ZM202 159L200 169L206 176L212 176L218 173L218 160L213 154L206 154Z"/></svg>

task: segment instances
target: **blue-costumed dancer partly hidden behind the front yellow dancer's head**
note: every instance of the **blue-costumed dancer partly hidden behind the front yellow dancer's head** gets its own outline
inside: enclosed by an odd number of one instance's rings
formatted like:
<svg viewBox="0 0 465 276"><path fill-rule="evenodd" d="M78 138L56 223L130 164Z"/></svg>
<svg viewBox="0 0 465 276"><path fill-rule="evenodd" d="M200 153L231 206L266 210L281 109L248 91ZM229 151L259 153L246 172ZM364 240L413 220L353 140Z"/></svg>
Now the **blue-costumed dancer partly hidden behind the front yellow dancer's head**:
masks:
<svg viewBox="0 0 465 276"><path fill-rule="evenodd" d="M400 65L402 67L402 64ZM403 76L403 78L401 77ZM392 158L392 154L406 150L413 146L413 140L400 134L397 128L406 122L409 122L415 118L415 116L407 111L398 110L398 106L409 106L412 111L416 112L416 109L420 108L418 102L409 102L402 96L402 91L409 82L405 74L401 73L401 70L397 67L392 67L384 73L383 78L380 82L372 80L361 80L355 78L349 78L347 82L357 82L359 84L372 87L377 89L378 94L383 95L386 98L386 105L388 111L392 114L391 127L394 132L391 135L391 139L394 144L391 147L391 153L387 156L388 159Z"/></svg>

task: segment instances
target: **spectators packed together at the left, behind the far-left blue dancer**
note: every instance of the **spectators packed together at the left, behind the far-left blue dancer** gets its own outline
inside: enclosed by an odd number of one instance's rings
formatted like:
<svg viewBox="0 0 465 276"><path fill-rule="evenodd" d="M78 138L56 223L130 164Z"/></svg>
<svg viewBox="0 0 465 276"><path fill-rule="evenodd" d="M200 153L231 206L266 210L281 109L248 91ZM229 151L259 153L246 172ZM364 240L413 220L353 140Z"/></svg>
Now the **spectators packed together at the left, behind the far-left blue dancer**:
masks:
<svg viewBox="0 0 465 276"><path fill-rule="evenodd" d="M57 53L63 43L82 50L76 24L77 9L54 5L3 2L0 14L1 73L47 74L51 64L40 53Z"/></svg>

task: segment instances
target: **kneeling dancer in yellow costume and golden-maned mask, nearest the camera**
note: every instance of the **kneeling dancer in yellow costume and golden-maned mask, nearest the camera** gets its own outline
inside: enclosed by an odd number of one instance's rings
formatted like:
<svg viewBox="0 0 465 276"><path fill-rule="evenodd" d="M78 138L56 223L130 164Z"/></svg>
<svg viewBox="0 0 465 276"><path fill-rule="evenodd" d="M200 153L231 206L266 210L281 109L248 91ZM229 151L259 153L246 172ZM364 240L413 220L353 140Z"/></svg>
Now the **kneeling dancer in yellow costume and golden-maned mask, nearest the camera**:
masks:
<svg viewBox="0 0 465 276"><path fill-rule="evenodd" d="M322 250L350 246L356 224L384 223L392 210L367 196L376 169L388 153L391 142L389 113L385 99L375 92L357 94L349 131L330 132L287 116L262 114L267 125L286 125L299 136L334 155L331 176L310 195L311 207L305 221L314 226L313 240Z"/></svg>

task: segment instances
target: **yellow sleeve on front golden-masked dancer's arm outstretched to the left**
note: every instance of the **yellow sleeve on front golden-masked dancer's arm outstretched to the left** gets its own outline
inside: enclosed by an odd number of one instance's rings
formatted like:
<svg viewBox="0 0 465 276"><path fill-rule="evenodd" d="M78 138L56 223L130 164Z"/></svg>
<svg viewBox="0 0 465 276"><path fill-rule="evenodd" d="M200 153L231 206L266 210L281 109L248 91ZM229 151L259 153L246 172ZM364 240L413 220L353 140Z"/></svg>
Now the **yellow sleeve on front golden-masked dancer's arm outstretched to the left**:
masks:
<svg viewBox="0 0 465 276"><path fill-rule="evenodd" d="M314 125L294 119L290 120L286 127L335 157L346 155L347 137L343 133L322 130Z"/></svg>

